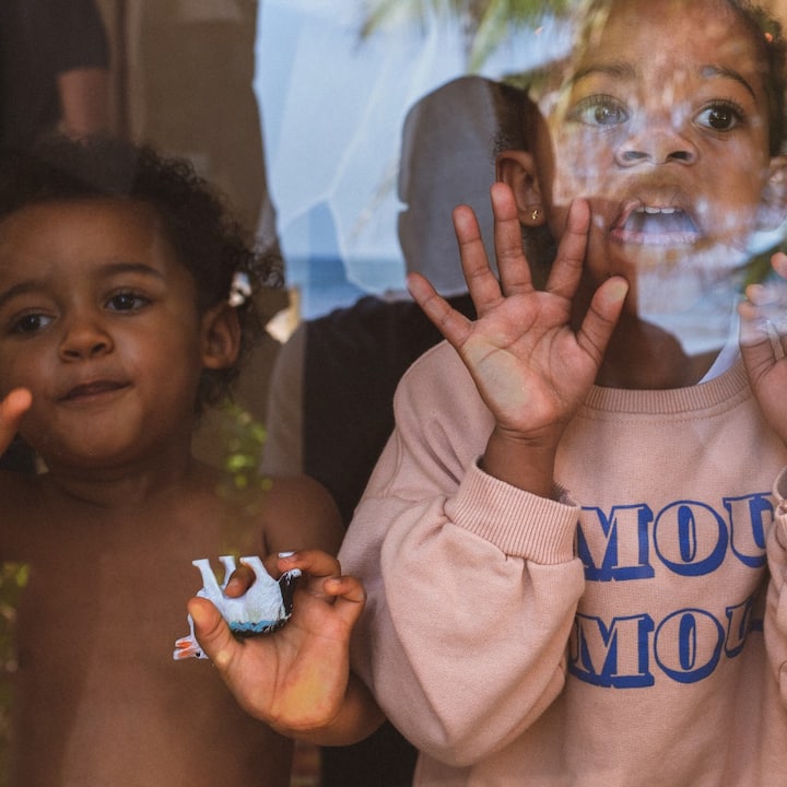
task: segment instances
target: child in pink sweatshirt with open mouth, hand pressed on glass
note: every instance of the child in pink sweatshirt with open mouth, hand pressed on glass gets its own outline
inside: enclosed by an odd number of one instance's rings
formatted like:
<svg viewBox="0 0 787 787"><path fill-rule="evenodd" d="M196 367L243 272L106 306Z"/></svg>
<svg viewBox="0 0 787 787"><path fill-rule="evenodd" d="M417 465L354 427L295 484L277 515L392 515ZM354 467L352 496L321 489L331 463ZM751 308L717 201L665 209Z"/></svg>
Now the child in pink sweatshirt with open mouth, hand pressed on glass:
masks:
<svg viewBox="0 0 787 787"><path fill-rule="evenodd" d="M761 19L591 3L533 152L497 160L500 281L455 212L478 320L411 278L447 343L397 391L340 560L368 594L353 669L419 785L787 783L787 257L745 289L740 338L693 343L783 219L784 44ZM537 290L521 226L543 224Z"/></svg>

